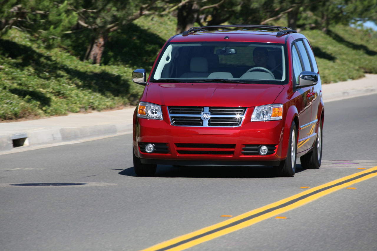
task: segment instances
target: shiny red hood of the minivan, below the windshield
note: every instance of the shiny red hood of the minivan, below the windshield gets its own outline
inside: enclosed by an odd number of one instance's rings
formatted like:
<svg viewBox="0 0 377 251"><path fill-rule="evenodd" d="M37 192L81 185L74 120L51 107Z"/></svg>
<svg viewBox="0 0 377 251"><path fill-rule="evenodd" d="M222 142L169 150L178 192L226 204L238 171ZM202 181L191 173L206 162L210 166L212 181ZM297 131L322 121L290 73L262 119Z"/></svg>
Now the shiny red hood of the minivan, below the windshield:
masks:
<svg viewBox="0 0 377 251"><path fill-rule="evenodd" d="M227 83L152 83L146 102L165 106L267 105L284 90L283 85Z"/></svg>

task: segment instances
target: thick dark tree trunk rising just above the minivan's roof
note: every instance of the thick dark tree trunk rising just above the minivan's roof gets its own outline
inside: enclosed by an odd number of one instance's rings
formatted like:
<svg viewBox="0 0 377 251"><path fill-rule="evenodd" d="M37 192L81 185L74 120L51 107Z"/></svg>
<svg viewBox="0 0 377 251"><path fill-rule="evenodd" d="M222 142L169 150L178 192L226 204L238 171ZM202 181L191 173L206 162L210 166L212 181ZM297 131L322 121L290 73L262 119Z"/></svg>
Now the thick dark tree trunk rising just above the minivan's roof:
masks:
<svg viewBox="0 0 377 251"><path fill-rule="evenodd" d="M194 27L198 15L199 6L196 2L179 6L177 14L177 33L184 32L190 27Z"/></svg>

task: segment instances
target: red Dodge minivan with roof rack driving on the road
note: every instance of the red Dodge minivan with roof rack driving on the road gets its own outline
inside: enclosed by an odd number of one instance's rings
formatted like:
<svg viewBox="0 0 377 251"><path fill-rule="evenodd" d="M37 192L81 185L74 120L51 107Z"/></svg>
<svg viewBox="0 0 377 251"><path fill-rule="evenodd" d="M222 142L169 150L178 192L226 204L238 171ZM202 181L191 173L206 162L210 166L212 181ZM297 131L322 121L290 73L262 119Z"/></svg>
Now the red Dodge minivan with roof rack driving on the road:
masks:
<svg viewBox="0 0 377 251"><path fill-rule="evenodd" d="M307 38L287 27L193 27L162 47L133 117L133 166L263 165L317 169L324 106Z"/></svg>

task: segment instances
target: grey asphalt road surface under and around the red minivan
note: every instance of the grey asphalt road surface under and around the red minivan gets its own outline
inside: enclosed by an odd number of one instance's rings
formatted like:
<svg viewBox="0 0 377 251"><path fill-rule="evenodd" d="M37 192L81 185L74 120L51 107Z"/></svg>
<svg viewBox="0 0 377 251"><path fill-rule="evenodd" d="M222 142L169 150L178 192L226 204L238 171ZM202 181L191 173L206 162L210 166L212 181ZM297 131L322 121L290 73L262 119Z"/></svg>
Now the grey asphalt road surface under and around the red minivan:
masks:
<svg viewBox="0 0 377 251"><path fill-rule="evenodd" d="M323 163L132 168L132 135L0 155L0 250L141 250L377 166L377 95L325 104ZM377 176L187 250L377 250ZM12 186L19 183L86 183ZM231 215L232 217L221 217Z"/></svg>

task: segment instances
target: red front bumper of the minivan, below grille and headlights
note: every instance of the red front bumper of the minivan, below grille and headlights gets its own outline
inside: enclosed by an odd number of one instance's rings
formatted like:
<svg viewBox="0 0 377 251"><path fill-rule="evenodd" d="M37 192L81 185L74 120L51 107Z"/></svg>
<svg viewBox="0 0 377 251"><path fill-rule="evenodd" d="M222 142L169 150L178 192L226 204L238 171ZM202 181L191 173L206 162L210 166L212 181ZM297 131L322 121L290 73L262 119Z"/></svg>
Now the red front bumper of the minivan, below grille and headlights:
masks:
<svg viewBox="0 0 377 251"><path fill-rule="evenodd" d="M250 122L249 117L245 117L239 127L207 128L172 126L166 120L141 119L135 116L133 147L136 157L141 158L141 163L145 164L276 166L287 157L289 129L284 128L282 120ZM162 147L162 152L149 154L144 151L145 143L167 147ZM267 145L273 150L267 155L245 151L260 145Z"/></svg>

